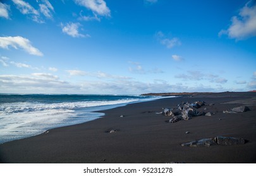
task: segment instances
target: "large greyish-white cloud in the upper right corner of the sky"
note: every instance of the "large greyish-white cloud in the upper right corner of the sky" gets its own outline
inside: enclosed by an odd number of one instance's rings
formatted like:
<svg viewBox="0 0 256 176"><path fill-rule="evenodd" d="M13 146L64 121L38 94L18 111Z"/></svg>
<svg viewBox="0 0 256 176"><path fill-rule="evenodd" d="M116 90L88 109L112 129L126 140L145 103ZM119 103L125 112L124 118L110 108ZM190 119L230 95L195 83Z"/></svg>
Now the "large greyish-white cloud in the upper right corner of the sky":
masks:
<svg viewBox="0 0 256 176"><path fill-rule="evenodd" d="M219 36L228 35L229 38L243 40L256 36L256 3L249 1L240 9L238 16L231 18L228 30L221 30Z"/></svg>

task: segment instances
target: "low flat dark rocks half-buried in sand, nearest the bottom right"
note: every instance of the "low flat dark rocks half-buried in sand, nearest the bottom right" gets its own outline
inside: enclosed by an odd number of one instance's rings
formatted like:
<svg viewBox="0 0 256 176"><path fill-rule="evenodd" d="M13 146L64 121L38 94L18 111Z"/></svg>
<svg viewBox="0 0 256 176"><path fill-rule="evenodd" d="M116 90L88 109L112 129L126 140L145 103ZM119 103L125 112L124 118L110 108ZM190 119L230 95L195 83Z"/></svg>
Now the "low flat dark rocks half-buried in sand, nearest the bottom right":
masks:
<svg viewBox="0 0 256 176"><path fill-rule="evenodd" d="M243 138L217 136L215 138L205 138L198 141L183 143L181 144L181 146L212 146L212 145L240 145L240 144L245 144L245 140Z"/></svg>

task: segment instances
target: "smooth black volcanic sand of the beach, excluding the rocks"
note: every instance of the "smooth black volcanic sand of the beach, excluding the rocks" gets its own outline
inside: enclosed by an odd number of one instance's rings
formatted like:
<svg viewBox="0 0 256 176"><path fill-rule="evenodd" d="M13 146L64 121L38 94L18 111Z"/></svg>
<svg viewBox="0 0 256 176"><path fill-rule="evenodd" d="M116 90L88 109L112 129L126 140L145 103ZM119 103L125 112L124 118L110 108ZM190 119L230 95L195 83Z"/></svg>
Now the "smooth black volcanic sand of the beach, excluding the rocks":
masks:
<svg viewBox="0 0 256 176"><path fill-rule="evenodd" d="M215 113L177 123L155 114L181 102L205 101L198 111ZM228 102L228 103L224 103ZM251 111L223 114L246 104ZM207 110L204 110L204 108ZM2 163L255 163L256 93L223 92L128 104L103 111L88 123L49 130L31 138L0 145ZM123 118L120 118L123 114ZM219 120L221 119L221 120ZM107 133L111 129L116 133ZM190 133L186 134L186 131ZM214 136L245 138L244 145L181 146Z"/></svg>

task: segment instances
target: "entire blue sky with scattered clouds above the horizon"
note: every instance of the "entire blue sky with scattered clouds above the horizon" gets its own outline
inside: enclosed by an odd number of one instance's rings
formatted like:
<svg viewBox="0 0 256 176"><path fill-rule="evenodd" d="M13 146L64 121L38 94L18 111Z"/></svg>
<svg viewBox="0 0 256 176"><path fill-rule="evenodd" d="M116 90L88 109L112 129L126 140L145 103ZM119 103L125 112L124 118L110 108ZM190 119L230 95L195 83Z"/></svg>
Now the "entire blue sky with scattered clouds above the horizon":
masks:
<svg viewBox="0 0 256 176"><path fill-rule="evenodd" d="M256 89L255 1L0 1L0 92Z"/></svg>

